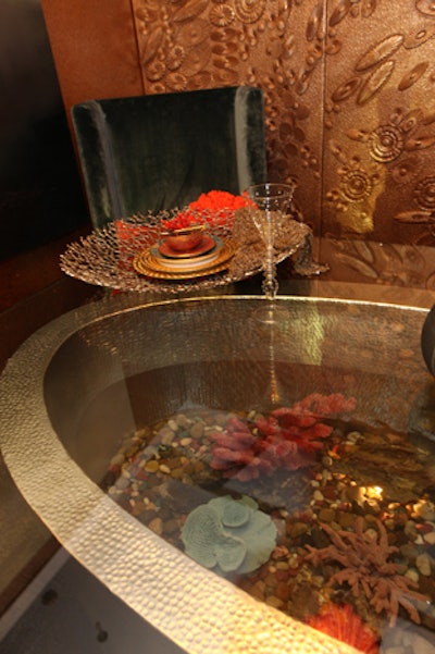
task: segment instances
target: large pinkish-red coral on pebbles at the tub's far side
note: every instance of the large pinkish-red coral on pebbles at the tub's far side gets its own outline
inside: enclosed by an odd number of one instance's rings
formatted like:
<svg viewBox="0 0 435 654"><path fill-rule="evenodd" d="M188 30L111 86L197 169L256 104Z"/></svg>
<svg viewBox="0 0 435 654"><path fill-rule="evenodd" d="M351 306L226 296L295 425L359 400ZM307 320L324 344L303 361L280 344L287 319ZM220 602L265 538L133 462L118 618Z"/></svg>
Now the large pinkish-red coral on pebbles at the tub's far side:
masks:
<svg viewBox="0 0 435 654"><path fill-rule="evenodd" d="M296 470L313 462L332 427L322 418L355 408L355 399L343 395L308 395L293 407L281 407L269 417L244 422L232 416L223 432L213 432L210 466L223 477L240 481L270 476L277 468Z"/></svg>

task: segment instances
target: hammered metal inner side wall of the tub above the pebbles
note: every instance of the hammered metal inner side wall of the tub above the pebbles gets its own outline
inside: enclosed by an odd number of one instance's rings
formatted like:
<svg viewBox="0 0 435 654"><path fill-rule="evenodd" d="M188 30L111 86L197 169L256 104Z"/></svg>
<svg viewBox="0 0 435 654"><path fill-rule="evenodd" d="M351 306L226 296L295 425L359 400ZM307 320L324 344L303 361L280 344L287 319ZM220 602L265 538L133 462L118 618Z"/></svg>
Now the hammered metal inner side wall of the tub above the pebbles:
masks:
<svg viewBox="0 0 435 654"><path fill-rule="evenodd" d="M343 393L358 398L357 418L388 416L391 427L407 429L427 382L419 316L302 301L271 338L252 318L256 308L162 305L92 321L67 338L47 368L45 399L72 458L98 482L120 439L138 428L194 406L261 409L272 369L284 403L313 391ZM405 350L398 365L394 357Z"/></svg>

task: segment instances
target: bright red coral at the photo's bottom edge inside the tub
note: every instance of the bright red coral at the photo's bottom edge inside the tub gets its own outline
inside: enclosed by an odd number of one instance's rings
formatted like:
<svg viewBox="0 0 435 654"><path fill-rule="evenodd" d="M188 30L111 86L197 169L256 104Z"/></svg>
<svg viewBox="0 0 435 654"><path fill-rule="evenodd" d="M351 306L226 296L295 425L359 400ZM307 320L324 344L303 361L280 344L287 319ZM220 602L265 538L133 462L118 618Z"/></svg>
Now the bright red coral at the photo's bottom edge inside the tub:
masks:
<svg viewBox="0 0 435 654"><path fill-rule="evenodd" d="M362 622L349 604L324 604L319 614L308 618L307 622L365 654L377 654L380 651L378 637Z"/></svg>

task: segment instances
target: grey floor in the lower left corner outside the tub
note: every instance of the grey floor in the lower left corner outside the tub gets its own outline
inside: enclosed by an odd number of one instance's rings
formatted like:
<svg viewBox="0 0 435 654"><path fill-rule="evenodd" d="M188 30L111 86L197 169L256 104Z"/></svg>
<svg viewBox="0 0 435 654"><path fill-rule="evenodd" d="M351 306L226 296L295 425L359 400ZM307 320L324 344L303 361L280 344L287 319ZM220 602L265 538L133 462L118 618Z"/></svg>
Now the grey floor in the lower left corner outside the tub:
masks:
<svg viewBox="0 0 435 654"><path fill-rule="evenodd" d="M0 619L0 654L182 654L61 550Z"/></svg>

